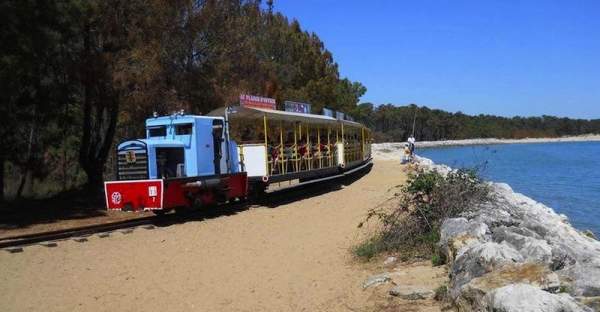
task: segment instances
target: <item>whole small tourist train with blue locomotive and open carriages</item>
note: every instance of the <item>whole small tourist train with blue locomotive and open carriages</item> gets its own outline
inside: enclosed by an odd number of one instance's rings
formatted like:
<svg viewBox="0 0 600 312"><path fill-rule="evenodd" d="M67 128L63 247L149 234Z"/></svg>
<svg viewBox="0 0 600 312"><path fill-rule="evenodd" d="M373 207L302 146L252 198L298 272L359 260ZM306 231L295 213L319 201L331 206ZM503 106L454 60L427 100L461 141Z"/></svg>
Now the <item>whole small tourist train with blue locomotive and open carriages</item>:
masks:
<svg viewBox="0 0 600 312"><path fill-rule="evenodd" d="M117 146L109 210L157 214L246 199L273 188L337 178L371 165L371 131L340 112L242 95L204 116L146 120L146 138Z"/></svg>

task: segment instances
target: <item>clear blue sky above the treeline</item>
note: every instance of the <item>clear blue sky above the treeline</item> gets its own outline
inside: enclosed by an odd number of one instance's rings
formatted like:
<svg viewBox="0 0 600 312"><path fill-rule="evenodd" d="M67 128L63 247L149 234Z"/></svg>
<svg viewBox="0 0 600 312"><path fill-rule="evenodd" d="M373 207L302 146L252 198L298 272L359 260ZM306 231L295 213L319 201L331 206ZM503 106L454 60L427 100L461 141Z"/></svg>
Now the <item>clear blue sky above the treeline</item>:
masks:
<svg viewBox="0 0 600 312"><path fill-rule="evenodd" d="M600 1L275 0L361 102L600 118Z"/></svg>

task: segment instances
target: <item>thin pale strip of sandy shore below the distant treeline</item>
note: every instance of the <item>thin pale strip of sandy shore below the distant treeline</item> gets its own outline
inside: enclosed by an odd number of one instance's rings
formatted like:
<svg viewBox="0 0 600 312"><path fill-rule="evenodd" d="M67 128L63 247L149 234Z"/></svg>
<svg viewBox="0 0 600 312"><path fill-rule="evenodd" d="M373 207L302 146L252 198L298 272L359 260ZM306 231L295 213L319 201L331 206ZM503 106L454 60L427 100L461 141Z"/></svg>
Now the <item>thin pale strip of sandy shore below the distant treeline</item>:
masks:
<svg viewBox="0 0 600 312"><path fill-rule="evenodd" d="M444 140L444 141L421 141L416 142L418 148L440 147L440 146L463 146L463 145L490 145L490 144L524 144L524 143L551 143L551 142L586 142L600 141L599 134L588 134L580 136L560 138L526 138L526 139L468 139L468 140ZM380 143L382 148L386 146L401 146L403 143Z"/></svg>

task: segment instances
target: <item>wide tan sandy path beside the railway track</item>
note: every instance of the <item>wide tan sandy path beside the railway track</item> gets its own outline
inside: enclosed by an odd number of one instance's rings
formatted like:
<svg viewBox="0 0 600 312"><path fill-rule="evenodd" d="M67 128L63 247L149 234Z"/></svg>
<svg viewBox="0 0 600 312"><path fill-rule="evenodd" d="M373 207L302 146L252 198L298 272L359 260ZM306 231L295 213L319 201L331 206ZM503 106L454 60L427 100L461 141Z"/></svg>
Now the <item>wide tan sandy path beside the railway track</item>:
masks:
<svg viewBox="0 0 600 312"><path fill-rule="evenodd" d="M397 162L339 190L88 242L0 252L2 311L349 311L372 272L348 248L404 181Z"/></svg>

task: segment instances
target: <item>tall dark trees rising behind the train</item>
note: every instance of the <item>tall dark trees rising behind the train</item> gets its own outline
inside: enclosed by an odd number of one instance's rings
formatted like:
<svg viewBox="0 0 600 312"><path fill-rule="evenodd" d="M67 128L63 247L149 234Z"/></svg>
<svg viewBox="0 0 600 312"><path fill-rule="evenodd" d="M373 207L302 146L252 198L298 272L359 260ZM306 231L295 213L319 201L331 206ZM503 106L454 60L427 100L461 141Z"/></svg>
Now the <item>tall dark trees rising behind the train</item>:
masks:
<svg viewBox="0 0 600 312"><path fill-rule="evenodd" d="M349 111L366 91L272 0L5 0L0 20L0 200L101 190L153 111L240 93Z"/></svg>

